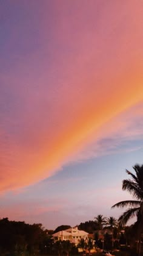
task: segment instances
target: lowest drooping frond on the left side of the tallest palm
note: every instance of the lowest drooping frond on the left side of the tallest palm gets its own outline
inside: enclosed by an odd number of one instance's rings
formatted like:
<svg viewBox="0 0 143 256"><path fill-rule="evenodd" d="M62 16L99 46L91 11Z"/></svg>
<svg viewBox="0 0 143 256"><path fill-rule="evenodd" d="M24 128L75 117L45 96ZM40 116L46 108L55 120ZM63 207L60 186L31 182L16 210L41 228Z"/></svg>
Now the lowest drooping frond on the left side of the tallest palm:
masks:
<svg viewBox="0 0 143 256"><path fill-rule="evenodd" d="M129 208L119 217L118 221L121 226L124 226L129 219L138 215L140 207L138 208Z"/></svg>

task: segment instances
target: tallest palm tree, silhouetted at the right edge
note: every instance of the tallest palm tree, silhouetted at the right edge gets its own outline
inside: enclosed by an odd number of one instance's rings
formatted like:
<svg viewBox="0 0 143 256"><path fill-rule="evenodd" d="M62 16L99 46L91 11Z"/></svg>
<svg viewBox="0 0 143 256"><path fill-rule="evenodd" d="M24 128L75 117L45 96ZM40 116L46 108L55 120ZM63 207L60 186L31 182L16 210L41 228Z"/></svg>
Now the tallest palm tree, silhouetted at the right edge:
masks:
<svg viewBox="0 0 143 256"><path fill-rule="evenodd" d="M141 233L143 227L143 165L133 166L135 174L127 171L131 179L123 180L122 190L127 190L134 200L121 201L113 205L111 208L124 208L128 209L119 217L119 224L124 226L129 219L137 217L136 224L138 225L138 255L141 255Z"/></svg>

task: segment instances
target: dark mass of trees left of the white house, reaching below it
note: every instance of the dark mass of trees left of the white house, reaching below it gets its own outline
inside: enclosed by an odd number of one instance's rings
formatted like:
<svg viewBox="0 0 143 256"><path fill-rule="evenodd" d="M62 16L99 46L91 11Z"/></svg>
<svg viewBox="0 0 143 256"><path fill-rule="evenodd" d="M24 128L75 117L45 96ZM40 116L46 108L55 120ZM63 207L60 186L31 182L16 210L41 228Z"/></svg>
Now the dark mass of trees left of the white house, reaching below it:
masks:
<svg viewBox="0 0 143 256"><path fill-rule="evenodd" d="M67 229L60 226L56 230ZM78 248L69 241L54 243L54 230L47 230L42 224L26 224L24 221L0 219L0 255L33 256L33 255L71 255L78 254ZM55 230L55 231L56 231ZM57 231L58 232L58 231Z"/></svg>

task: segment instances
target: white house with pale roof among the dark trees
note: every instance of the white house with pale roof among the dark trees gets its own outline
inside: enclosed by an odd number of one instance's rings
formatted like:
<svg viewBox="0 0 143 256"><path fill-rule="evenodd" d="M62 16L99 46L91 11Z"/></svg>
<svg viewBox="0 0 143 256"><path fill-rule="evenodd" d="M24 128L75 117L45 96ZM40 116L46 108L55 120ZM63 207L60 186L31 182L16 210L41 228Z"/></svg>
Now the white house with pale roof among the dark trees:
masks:
<svg viewBox="0 0 143 256"><path fill-rule="evenodd" d="M77 245L81 238L84 240L88 239L88 233L83 230L78 230L78 227L71 227L70 229L59 231L53 234L55 241L61 240L70 240L70 243Z"/></svg>

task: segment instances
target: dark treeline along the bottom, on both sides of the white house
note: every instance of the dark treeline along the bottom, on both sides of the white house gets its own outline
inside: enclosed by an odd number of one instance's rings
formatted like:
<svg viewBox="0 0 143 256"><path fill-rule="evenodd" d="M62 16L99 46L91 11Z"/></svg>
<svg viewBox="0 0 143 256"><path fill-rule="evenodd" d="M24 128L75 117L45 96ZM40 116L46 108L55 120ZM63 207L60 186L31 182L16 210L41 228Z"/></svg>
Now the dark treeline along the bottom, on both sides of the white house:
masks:
<svg viewBox="0 0 143 256"><path fill-rule="evenodd" d="M103 249L118 249L121 244L134 244L136 230L125 227L121 232L116 226L111 233L105 232L104 217L99 215L95 221L86 221L79 224L78 229L92 233L95 246ZM102 226L101 226L102 221ZM108 222L107 222L108 223ZM8 218L0 220L0 255L32 256L32 255L78 255L78 248L69 241L54 243L52 234L70 226L61 225L55 230L47 230L42 224L26 224L21 221L9 221ZM100 230L99 230L100 228ZM110 230L110 227L108 227ZM113 235L112 235L113 233ZM104 244L103 244L104 241ZM114 243L112 244L112 241ZM80 245L80 243L79 243ZM87 246L87 244L84 244ZM81 245L81 247L83 244Z"/></svg>

